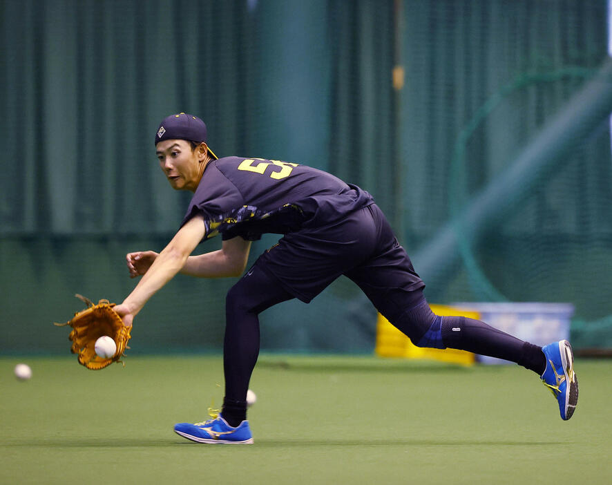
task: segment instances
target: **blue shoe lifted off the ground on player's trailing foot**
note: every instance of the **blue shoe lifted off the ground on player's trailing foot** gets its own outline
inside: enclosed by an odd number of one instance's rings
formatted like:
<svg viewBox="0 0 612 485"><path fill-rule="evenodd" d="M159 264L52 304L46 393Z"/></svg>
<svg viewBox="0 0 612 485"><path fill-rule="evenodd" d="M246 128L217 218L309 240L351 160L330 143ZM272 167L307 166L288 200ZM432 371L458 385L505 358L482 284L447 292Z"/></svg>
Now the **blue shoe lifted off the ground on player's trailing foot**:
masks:
<svg viewBox="0 0 612 485"><path fill-rule="evenodd" d="M562 419L570 419L578 402L578 379L574 372L574 354L568 341L562 340L542 348L546 370L542 374L544 386L559 402Z"/></svg>

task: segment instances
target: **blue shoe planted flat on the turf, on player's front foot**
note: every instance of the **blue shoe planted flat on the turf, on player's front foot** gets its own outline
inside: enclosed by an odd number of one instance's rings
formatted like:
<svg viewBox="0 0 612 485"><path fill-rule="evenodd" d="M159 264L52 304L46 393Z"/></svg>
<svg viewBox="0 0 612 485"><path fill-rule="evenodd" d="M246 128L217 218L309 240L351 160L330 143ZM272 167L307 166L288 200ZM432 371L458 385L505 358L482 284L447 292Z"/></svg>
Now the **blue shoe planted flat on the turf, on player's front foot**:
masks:
<svg viewBox="0 0 612 485"><path fill-rule="evenodd" d="M253 444L249 421L232 428L222 416L213 415L203 423L179 423L174 426L176 434L198 443L210 444Z"/></svg>

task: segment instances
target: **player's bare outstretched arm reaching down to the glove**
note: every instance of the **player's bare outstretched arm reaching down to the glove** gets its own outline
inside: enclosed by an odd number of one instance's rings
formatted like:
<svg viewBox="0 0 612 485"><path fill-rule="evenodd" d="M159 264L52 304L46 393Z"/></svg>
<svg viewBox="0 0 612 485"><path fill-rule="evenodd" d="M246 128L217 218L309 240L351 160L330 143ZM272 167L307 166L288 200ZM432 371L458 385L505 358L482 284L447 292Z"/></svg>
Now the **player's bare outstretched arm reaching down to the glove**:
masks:
<svg viewBox="0 0 612 485"><path fill-rule="evenodd" d="M131 294L115 312L122 317L125 325L131 325L134 316L142 310L144 304L171 280L184 266L187 257L206 234L202 216L195 216L187 222L172 238L164 250L155 258L149 271L142 277Z"/></svg>

